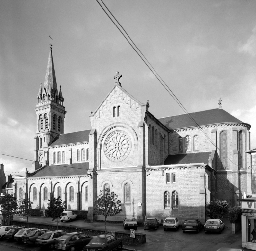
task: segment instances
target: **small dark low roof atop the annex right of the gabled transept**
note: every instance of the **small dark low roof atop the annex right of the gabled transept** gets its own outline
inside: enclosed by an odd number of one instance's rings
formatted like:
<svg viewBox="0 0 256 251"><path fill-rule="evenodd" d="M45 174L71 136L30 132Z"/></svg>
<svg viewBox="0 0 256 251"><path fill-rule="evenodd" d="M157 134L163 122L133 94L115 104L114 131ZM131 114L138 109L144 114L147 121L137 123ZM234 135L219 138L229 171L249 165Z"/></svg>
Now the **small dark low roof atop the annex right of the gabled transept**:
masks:
<svg viewBox="0 0 256 251"><path fill-rule="evenodd" d="M192 164L192 163L205 163L208 164L208 158L210 151L196 152L188 154L175 154L169 155L165 161L165 165L177 165L177 164Z"/></svg>

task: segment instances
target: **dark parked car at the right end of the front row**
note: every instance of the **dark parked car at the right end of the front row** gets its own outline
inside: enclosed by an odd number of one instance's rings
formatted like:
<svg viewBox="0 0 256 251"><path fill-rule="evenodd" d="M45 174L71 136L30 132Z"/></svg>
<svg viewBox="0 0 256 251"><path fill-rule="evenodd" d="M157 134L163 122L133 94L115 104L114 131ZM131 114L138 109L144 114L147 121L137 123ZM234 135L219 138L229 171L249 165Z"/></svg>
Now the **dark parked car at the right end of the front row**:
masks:
<svg viewBox="0 0 256 251"><path fill-rule="evenodd" d="M122 239L117 239L111 234L101 234L93 237L88 245L86 245L84 251L111 251L114 249L122 249Z"/></svg>

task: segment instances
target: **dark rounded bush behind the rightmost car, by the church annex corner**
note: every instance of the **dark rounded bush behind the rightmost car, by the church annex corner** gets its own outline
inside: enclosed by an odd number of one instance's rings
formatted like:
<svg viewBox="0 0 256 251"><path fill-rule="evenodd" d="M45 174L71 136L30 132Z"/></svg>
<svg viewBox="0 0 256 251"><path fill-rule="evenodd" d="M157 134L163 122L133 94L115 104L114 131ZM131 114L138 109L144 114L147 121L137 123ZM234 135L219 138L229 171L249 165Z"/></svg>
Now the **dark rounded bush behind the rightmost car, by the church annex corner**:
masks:
<svg viewBox="0 0 256 251"><path fill-rule="evenodd" d="M215 200L206 204L206 214L211 219L223 219L224 214L229 211L229 203L226 200Z"/></svg>

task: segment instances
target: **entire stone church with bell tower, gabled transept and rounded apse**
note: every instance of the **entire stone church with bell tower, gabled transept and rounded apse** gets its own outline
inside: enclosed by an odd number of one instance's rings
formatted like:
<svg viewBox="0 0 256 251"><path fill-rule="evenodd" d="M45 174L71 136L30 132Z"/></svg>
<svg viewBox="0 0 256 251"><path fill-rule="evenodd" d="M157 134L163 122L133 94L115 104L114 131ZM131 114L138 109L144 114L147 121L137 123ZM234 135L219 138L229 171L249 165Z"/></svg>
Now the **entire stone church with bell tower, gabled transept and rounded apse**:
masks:
<svg viewBox="0 0 256 251"><path fill-rule="evenodd" d="M58 91L52 46L44 86L37 95L34 172L15 180L16 196L46 209L60 196L68 210L93 212L100 191L110 188L122 202L120 215L142 223L145 217L175 216L205 221L213 198L251 193L250 125L221 107L157 119L120 83L91 113L91 128L64 133L65 107ZM194 120L194 121L193 121Z"/></svg>

